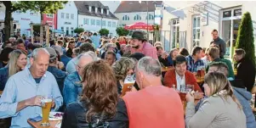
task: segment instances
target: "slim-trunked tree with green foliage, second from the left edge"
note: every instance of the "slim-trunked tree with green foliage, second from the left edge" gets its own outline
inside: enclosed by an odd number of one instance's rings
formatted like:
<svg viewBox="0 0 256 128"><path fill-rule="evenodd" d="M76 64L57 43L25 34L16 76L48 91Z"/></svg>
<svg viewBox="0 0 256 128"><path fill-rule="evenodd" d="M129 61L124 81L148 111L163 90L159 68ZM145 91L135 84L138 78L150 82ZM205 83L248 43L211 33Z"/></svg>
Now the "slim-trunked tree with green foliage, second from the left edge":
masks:
<svg viewBox="0 0 256 128"><path fill-rule="evenodd" d="M67 1L18 1L17 3L24 7L21 9L22 11L30 9L31 11L40 12L40 42L43 43L43 14L55 14L58 9L64 8L63 4Z"/></svg>

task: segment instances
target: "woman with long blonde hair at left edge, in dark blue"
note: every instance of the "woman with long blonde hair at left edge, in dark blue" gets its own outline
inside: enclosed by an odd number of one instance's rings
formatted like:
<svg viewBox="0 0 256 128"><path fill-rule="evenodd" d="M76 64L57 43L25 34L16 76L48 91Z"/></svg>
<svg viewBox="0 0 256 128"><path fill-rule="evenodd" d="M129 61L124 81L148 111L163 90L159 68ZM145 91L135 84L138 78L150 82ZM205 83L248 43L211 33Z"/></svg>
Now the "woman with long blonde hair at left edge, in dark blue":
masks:
<svg viewBox="0 0 256 128"><path fill-rule="evenodd" d="M10 53L9 63L6 67L0 69L0 91L3 91L10 76L25 69L26 58L26 53L22 50L14 50Z"/></svg>

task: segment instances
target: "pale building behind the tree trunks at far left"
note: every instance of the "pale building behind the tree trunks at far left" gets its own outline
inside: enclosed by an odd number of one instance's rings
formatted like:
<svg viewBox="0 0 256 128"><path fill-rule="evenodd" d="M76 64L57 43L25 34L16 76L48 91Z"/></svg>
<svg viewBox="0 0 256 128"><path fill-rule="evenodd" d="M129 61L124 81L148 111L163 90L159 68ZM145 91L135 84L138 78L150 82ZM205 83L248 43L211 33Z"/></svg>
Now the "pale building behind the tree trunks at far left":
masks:
<svg viewBox="0 0 256 128"><path fill-rule="evenodd" d="M4 27L4 18L5 18L5 6L3 3L0 6L0 29ZM20 10L14 11L12 14L14 18L14 32L20 31L20 34L25 34L26 36L31 36L31 23L40 24L41 16L39 13L26 11L22 13Z"/></svg>

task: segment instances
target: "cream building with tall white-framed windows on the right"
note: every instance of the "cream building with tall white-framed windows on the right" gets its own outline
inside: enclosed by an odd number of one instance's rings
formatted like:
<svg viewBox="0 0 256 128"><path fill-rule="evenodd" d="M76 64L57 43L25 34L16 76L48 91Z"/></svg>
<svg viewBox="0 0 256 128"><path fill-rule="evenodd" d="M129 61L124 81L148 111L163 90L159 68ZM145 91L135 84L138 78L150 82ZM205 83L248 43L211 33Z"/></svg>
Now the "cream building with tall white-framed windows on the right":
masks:
<svg viewBox="0 0 256 128"><path fill-rule="evenodd" d="M213 40L211 31L216 29L219 37L227 42L226 55L230 57L230 41L236 42L238 26L245 12L252 16L256 37L255 5L256 2L249 1L165 1L162 31L171 34L165 36L167 42L164 45L172 48L170 46L178 42L179 47L186 47L189 51L194 46L208 47Z"/></svg>

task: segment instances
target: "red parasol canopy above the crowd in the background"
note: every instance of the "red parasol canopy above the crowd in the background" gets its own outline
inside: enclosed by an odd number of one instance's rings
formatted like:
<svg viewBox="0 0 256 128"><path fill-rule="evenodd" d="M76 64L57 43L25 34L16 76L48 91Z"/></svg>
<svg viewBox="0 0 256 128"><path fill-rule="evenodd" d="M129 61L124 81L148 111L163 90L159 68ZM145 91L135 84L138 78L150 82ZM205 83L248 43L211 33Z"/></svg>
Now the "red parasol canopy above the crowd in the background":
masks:
<svg viewBox="0 0 256 128"><path fill-rule="evenodd" d="M124 26L124 29L127 29L127 30L148 30L149 31L153 31L153 26L152 25L147 25L143 22L136 22L132 25L125 25Z"/></svg>

